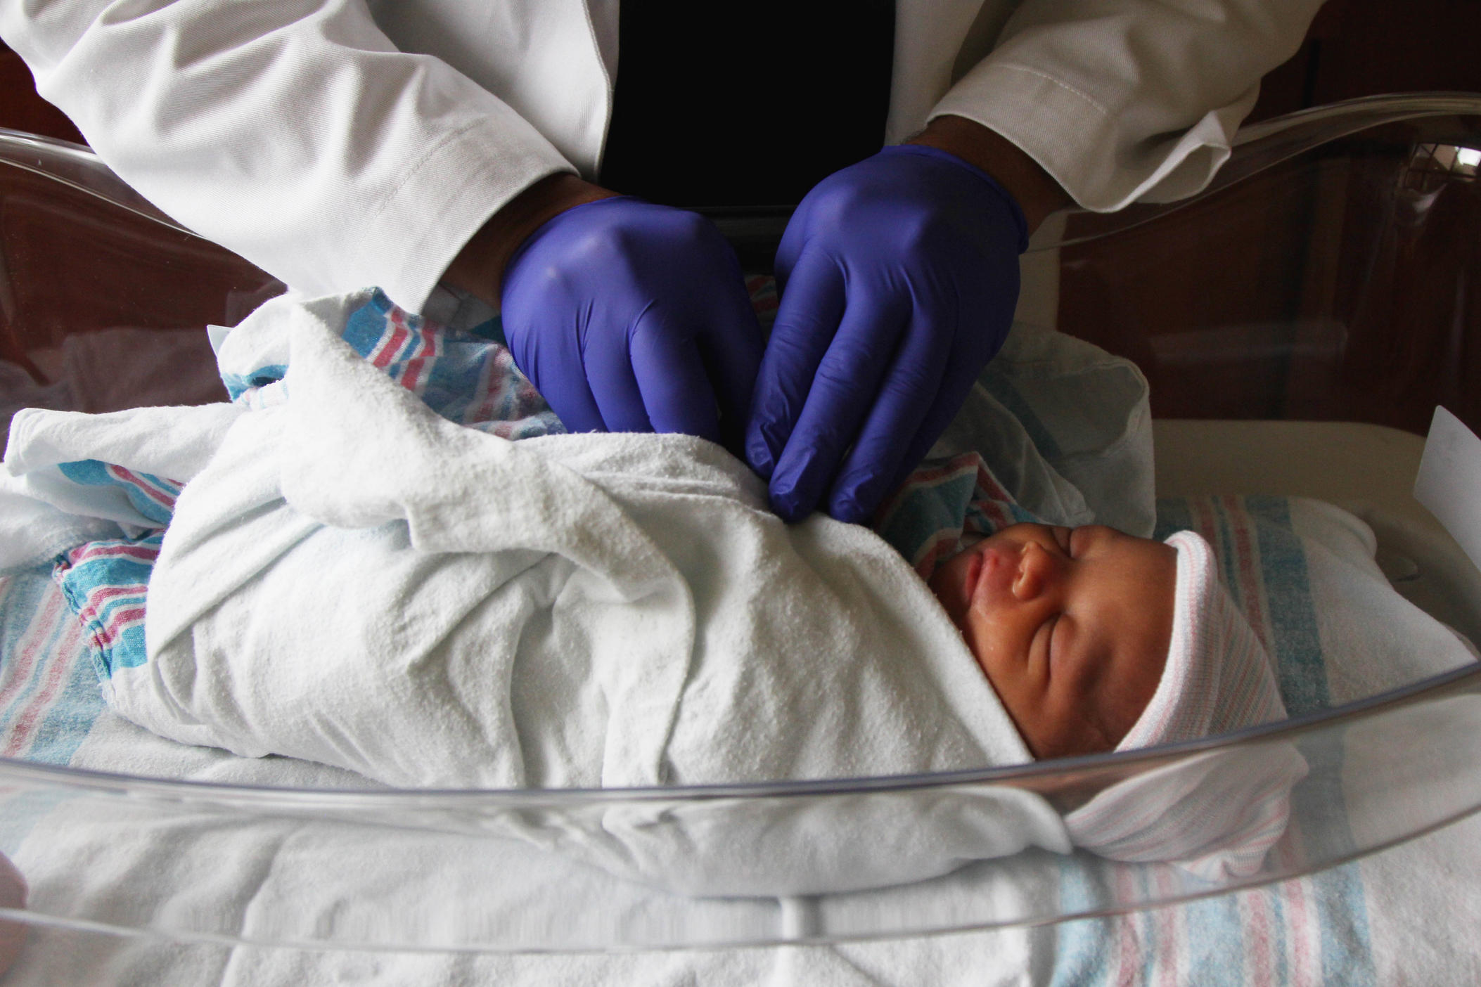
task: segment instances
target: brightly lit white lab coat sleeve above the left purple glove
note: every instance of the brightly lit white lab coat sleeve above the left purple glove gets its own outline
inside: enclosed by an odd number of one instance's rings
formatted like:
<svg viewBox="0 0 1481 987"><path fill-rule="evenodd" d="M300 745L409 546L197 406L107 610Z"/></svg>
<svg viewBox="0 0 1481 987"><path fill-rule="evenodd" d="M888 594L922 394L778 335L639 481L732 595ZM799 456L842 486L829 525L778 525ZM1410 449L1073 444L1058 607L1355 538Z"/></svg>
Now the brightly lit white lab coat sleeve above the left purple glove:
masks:
<svg viewBox="0 0 1481 987"><path fill-rule="evenodd" d="M0 0L0 37L129 185L310 293L418 311L489 216L575 170L361 0Z"/></svg>

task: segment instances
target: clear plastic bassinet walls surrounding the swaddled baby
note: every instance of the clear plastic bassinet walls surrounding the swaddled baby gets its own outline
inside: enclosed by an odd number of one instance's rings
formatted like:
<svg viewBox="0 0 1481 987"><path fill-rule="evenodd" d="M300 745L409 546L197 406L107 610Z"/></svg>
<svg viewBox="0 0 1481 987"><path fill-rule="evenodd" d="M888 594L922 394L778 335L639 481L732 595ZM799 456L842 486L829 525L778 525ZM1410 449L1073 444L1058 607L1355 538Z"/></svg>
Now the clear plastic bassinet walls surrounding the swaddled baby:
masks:
<svg viewBox="0 0 1481 987"><path fill-rule="evenodd" d="M1400 587L1481 641L1481 574L1410 496L1434 405L1481 419L1481 398L1466 386L1481 339L1478 163L1481 98L1354 101L1246 129L1214 183L1191 200L1072 215L1034 249L1060 283L1060 329L1127 352L1151 379L1154 411L1164 419L1160 493L1376 505L1367 519L1380 555L1408 567ZM738 222L732 226L745 226ZM163 218L86 149L0 133L0 360L25 371L25 386L58 383L68 336L120 327L133 333L124 345L175 339L182 349L166 346L173 358L209 360L198 329L234 324L278 287ZM1174 294L1186 297L1169 306ZM1169 326L1169 311L1185 324ZM1240 386L1223 386L1229 380ZM121 385L73 397L84 410L130 402ZM900 833L880 832L871 845L857 821L897 818L900 806L929 839L933 806L954 801L1010 804L1023 792L1053 801L1152 769L1194 769L1210 753L1260 761L1291 746L1308 765L1291 799L1300 841L1237 879L1029 849L903 885L859 880L835 894L767 895L738 882L693 897L563 854L563 835L600 832L615 814L641 817L655 832L683 824L686 833L695 820L709 832L751 833L766 826L754 820L810 817L850 820L859 833L855 857L878 860L900 852ZM1328 869L1459 820L1481 808L1481 666L1198 743L927 777L655 790L304 790L0 759L0 789L3 832L30 826L40 808L67 806L47 815L56 833L28 839L55 836L78 867L105 857L108 826L139 827L195 864L224 841L268 842L280 885L304 889L301 898L283 894L271 907L222 917L230 910L212 907L212 895L230 894L231 876L201 882L198 866L182 866L179 876L148 875L160 906L144 917L120 919L124 912L99 898L58 906L34 894L24 912L0 910L28 923L170 941L469 951L866 940L1053 923L1225 894ZM64 832L71 826L77 832ZM545 845L511 838L511 826L545 833ZM769 851L785 858L816 849L803 836L788 839L773 839ZM92 857L78 851L89 846ZM675 852L723 855L726 845ZM429 872L459 875L443 889L453 912L432 914L409 892ZM120 880L126 895L127 875ZM332 912L312 906L314 886L347 882L363 894ZM1077 892L1063 894L1066 886Z"/></svg>

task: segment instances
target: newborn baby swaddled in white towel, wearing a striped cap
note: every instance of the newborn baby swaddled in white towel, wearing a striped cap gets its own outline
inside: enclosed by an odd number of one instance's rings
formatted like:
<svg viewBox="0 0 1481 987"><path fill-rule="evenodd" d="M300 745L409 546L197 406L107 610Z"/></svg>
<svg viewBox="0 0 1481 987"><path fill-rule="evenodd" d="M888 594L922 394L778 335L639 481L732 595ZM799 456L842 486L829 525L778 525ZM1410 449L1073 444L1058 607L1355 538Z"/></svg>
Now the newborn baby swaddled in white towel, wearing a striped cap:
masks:
<svg viewBox="0 0 1481 987"><path fill-rule="evenodd" d="M188 457L123 463L188 482L148 582L147 654L98 656L117 713L244 756L481 789L980 769L1283 715L1197 534L1010 525L1035 518L976 454L917 474L878 521L886 540L820 515L786 525L764 482L701 439L546 423L505 441L499 394L530 420L521 386L490 386L507 351L413 329L376 299L270 302L222 345L222 366L244 370L227 374L235 404L93 422L123 451L120 437L153 438L161 416L172 435L200 432ZM56 456L83 456L58 453L47 429L80 434L73 419L25 422L7 465L62 484ZM921 511L933 493L957 500ZM923 812L945 833L929 845ZM1026 845L1121 854L1106 827L1137 812L1097 826L1078 812L1060 820L1006 784L703 802L674 833L662 802L613 804L570 839L619 870L650 860L674 886L810 894ZM772 852L794 829L834 835L807 836L819 863L806 873ZM1158 855L1121 858L1180 858L1228 832L1186 848L1152 833ZM723 872L674 876L709 860L674 841L730 848ZM769 876L732 880L752 873Z"/></svg>

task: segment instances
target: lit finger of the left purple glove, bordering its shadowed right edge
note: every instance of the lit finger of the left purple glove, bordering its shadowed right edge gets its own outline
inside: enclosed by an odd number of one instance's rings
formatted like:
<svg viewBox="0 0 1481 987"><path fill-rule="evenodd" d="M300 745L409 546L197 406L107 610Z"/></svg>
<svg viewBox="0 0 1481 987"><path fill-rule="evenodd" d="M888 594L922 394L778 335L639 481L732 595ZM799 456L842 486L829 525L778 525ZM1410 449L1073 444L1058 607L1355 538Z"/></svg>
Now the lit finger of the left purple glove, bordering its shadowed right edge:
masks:
<svg viewBox="0 0 1481 987"><path fill-rule="evenodd" d="M675 317L649 309L631 342L632 374L655 432L684 432L720 441L715 391L699 345Z"/></svg>

